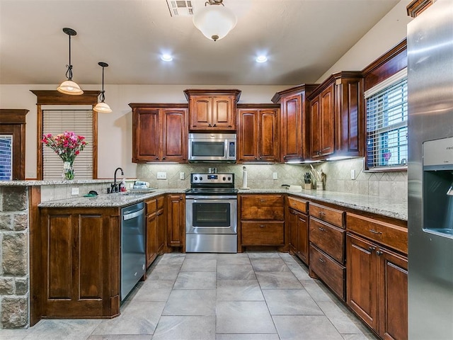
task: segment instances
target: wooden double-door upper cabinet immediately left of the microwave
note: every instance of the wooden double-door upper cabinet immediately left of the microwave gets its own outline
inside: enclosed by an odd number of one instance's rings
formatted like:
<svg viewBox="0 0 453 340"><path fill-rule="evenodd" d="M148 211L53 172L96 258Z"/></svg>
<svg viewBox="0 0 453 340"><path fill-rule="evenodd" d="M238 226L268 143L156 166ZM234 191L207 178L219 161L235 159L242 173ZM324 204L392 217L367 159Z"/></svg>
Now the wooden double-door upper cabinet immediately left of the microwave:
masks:
<svg viewBox="0 0 453 340"><path fill-rule="evenodd" d="M187 162L187 105L130 103L132 162Z"/></svg>

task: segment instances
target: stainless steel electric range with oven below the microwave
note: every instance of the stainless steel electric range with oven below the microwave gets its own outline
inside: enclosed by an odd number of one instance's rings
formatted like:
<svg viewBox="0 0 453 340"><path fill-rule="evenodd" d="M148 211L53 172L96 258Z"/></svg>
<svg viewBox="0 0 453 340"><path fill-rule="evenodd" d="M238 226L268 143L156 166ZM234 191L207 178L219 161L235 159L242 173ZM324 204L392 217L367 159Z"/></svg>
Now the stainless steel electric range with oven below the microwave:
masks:
<svg viewBox="0 0 453 340"><path fill-rule="evenodd" d="M190 174L185 193L185 251L236 253L237 189L234 174Z"/></svg>

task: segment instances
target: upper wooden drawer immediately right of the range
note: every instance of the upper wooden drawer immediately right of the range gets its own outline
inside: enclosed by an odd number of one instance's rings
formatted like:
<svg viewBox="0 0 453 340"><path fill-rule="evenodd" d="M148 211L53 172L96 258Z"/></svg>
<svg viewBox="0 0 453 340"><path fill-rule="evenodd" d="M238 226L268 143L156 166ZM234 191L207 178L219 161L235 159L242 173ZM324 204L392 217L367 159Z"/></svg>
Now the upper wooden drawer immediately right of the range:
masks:
<svg viewBox="0 0 453 340"><path fill-rule="evenodd" d="M283 220L283 195L241 196L241 220Z"/></svg>

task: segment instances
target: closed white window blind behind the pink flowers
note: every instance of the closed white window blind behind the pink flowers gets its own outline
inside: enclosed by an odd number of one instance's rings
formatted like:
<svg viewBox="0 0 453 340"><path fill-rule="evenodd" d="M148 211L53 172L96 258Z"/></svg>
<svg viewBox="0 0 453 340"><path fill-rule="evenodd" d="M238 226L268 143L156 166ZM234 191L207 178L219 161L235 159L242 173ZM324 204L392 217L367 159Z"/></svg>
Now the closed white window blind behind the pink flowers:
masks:
<svg viewBox="0 0 453 340"><path fill-rule="evenodd" d="M88 145L74 161L75 179L93 179L93 111L91 110L43 110L42 131L45 135L59 135L64 131L85 137ZM62 159L50 148L42 145L43 179L61 180Z"/></svg>

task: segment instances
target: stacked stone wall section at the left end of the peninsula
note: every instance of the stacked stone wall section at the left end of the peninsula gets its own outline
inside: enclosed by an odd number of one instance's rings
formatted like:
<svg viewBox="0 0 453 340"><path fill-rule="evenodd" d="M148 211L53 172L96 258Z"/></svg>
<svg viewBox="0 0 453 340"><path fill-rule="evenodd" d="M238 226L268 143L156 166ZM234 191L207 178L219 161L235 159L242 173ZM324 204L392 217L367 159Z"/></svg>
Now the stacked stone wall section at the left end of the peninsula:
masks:
<svg viewBox="0 0 453 340"><path fill-rule="evenodd" d="M0 188L0 329L28 327L28 188Z"/></svg>

